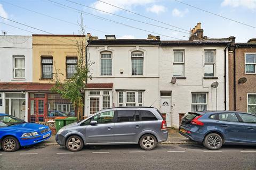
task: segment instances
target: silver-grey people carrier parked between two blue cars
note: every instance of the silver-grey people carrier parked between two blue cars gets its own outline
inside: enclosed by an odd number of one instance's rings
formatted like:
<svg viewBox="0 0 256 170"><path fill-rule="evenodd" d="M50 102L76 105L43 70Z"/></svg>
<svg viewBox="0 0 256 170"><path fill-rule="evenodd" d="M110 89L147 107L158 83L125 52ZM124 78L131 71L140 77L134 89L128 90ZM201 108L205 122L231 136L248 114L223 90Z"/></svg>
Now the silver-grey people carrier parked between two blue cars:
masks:
<svg viewBox="0 0 256 170"><path fill-rule="evenodd" d="M84 145L138 143L142 149L151 150L167 136L166 121L156 108L117 107L64 126L56 134L56 141L70 151L79 151Z"/></svg>

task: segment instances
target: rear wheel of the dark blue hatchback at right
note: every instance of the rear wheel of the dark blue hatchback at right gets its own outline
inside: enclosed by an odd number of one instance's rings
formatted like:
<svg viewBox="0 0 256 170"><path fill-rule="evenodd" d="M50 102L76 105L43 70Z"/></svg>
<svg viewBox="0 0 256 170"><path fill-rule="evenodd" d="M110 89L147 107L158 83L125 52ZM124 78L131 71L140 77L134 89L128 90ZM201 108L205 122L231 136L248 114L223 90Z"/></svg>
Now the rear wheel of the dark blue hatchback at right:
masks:
<svg viewBox="0 0 256 170"><path fill-rule="evenodd" d="M221 148L223 140L217 133L210 133L204 138L204 146L207 149L218 150Z"/></svg>

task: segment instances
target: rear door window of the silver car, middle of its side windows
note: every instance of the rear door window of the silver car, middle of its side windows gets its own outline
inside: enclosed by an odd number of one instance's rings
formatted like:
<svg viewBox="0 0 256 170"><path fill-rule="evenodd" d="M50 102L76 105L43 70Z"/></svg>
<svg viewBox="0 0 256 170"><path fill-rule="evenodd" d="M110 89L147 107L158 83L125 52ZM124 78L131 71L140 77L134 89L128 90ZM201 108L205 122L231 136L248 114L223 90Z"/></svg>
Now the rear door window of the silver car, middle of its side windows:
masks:
<svg viewBox="0 0 256 170"><path fill-rule="evenodd" d="M139 121L138 111L121 110L117 112L117 122L134 122Z"/></svg>

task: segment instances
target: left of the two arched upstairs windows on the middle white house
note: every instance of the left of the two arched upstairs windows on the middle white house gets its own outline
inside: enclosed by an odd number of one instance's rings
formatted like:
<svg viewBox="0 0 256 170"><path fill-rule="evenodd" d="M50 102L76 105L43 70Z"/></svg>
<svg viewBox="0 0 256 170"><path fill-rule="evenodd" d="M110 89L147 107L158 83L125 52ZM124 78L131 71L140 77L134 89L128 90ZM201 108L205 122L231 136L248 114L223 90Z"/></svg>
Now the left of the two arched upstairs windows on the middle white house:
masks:
<svg viewBox="0 0 256 170"><path fill-rule="evenodd" d="M100 54L100 75L112 75L112 54Z"/></svg>

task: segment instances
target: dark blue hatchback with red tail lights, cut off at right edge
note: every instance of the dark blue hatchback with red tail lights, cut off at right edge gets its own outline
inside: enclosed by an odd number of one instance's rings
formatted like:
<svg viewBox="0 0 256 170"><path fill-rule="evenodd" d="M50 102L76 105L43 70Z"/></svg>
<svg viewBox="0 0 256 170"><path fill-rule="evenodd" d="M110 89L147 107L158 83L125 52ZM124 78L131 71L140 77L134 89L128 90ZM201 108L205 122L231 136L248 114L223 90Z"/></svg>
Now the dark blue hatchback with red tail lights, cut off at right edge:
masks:
<svg viewBox="0 0 256 170"><path fill-rule="evenodd" d="M256 115L234 111L189 112L182 118L179 133L217 150L223 144L256 145Z"/></svg>

